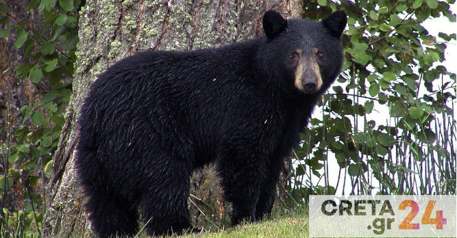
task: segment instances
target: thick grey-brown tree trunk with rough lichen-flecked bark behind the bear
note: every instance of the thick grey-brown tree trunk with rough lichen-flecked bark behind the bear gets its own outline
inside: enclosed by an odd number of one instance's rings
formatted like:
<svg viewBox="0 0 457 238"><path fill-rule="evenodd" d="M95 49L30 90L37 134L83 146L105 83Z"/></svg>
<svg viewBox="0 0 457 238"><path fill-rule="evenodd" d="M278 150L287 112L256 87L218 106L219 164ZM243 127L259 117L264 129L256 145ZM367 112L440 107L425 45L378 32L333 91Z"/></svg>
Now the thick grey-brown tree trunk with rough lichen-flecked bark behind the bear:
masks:
<svg viewBox="0 0 457 238"><path fill-rule="evenodd" d="M76 118L90 83L108 66L136 51L199 49L256 37L262 34L263 12L271 8L284 16L301 15L300 0L86 2L79 16L73 96L53 158L45 237L91 234L73 167ZM195 225L208 228L225 220L227 206L210 168L193 175L190 194Z"/></svg>

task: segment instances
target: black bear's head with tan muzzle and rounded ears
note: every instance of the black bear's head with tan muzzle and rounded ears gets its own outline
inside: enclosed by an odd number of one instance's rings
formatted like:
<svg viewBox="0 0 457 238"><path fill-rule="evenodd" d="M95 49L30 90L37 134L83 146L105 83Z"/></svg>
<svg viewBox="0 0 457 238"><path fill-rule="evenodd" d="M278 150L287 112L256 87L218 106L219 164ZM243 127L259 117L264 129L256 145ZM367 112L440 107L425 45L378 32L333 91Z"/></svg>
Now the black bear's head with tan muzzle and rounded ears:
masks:
<svg viewBox="0 0 457 238"><path fill-rule="evenodd" d="M343 65L341 34L347 16L337 11L322 21L284 19L269 10L263 17L266 42L260 53L275 78L305 94L322 93Z"/></svg>

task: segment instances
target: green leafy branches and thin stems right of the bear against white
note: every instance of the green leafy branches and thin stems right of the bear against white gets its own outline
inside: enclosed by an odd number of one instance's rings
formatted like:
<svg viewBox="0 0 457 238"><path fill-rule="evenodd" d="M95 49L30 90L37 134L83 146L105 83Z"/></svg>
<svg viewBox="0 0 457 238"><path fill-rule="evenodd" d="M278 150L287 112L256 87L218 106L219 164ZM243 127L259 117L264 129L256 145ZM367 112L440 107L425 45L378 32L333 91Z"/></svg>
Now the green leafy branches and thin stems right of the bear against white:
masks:
<svg viewBox="0 0 457 238"><path fill-rule="evenodd" d="M295 150L293 200L336 190L456 194L456 74L442 65L456 34L423 27L430 18L455 22L454 1L338 2L305 1L306 18L349 17L343 74Z"/></svg>

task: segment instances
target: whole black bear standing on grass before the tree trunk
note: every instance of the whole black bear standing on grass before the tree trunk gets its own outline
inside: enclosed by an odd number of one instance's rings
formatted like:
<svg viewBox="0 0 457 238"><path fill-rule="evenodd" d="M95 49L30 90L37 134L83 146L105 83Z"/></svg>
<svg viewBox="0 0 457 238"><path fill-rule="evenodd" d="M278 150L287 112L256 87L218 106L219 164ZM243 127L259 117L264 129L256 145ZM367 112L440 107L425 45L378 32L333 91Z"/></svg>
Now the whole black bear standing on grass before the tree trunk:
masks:
<svg viewBox="0 0 457 238"><path fill-rule="evenodd" d="M135 235L140 215L149 235L191 228L190 174L208 163L232 224L269 215L284 157L341 72L346 18L269 10L259 38L137 53L103 72L79 115L75 160L95 233Z"/></svg>

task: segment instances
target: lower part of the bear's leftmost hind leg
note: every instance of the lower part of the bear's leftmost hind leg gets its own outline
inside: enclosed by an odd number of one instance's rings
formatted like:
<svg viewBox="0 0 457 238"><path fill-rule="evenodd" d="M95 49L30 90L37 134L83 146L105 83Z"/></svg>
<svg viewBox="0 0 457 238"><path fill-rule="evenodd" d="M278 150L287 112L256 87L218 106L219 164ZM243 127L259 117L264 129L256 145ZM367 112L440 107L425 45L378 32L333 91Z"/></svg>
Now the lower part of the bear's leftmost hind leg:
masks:
<svg viewBox="0 0 457 238"><path fill-rule="evenodd" d="M134 237L138 233L138 207L106 189L88 193L86 209L92 228L99 237Z"/></svg>

